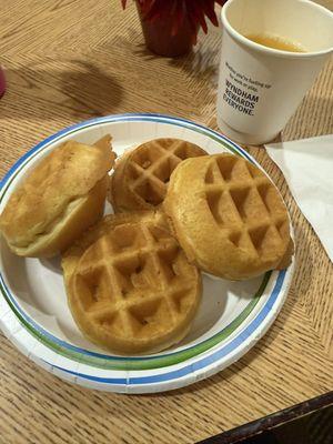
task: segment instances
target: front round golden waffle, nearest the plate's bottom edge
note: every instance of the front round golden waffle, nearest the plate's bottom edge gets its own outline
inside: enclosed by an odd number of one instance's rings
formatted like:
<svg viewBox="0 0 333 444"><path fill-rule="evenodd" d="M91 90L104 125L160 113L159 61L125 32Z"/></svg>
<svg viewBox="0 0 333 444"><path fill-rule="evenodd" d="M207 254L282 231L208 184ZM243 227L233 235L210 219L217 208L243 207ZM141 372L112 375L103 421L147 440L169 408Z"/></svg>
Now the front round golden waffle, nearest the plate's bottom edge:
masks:
<svg viewBox="0 0 333 444"><path fill-rule="evenodd" d="M181 341L201 299L201 278L161 214L104 218L62 260L69 305L81 331L121 354Z"/></svg>

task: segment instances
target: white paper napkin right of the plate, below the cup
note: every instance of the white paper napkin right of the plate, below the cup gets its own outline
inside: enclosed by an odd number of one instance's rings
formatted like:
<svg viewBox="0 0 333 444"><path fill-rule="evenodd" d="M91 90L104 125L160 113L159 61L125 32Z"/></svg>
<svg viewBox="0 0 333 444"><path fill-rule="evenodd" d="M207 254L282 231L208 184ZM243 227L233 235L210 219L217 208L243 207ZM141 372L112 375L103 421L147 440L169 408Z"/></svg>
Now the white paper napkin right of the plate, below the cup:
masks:
<svg viewBox="0 0 333 444"><path fill-rule="evenodd" d="M265 148L333 262L333 134Z"/></svg>

